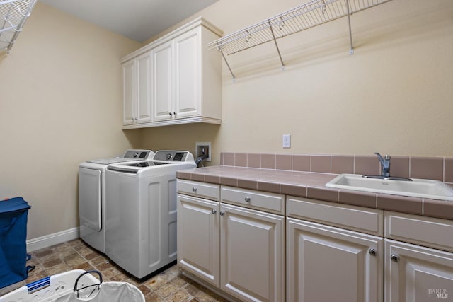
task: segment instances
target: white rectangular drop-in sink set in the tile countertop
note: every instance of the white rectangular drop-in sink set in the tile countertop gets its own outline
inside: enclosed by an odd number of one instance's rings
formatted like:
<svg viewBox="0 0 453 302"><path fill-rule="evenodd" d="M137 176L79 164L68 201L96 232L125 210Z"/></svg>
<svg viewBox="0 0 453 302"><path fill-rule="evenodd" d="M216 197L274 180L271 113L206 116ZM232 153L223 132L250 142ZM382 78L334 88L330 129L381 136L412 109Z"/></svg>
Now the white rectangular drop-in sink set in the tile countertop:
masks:
<svg viewBox="0 0 453 302"><path fill-rule="evenodd" d="M363 178L357 174L340 174L327 182L326 187L453 201L453 187L438 180L386 180Z"/></svg>

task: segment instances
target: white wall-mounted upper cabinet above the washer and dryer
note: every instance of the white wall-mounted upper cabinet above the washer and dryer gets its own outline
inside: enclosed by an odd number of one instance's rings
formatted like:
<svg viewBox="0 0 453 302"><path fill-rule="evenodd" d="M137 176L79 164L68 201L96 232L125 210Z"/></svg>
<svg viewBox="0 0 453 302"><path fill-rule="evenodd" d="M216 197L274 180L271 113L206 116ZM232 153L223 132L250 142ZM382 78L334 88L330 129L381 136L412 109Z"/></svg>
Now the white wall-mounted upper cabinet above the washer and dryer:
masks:
<svg viewBox="0 0 453 302"><path fill-rule="evenodd" d="M207 43L221 35L214 25L197 18L124 57L123 129L191 122L220 124L222 58L219 52L209 51ZM145 53L149 72L137 67L137 58ZM139 112L137 108L146 110Z"/></svg>

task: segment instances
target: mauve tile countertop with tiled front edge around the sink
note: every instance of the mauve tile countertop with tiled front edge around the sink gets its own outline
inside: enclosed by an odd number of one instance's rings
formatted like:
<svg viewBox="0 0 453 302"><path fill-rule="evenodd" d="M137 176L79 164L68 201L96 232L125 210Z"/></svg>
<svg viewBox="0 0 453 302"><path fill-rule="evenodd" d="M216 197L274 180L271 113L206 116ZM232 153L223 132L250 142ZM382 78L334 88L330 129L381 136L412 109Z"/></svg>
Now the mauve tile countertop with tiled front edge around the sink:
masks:
<svg viewBox="0 0 453 302"><path fill-rule="evenodd" d="M337 174L216 165L181 170L176 177L327 202L453 220L453 202L326 187Z"/></svg>

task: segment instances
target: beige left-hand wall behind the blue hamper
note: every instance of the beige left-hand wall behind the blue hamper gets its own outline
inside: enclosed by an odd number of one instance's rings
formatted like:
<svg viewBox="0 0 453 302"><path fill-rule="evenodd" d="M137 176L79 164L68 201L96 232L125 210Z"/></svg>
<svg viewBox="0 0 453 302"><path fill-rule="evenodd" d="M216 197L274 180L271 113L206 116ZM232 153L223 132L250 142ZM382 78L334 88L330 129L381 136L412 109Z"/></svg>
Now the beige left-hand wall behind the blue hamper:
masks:
<svg viewBox="0 0 453 302"><path fill-rule="evenodd" d="M0 199L29 202L29 239L79 225L79 163L137 144L121 130L119 64L137 47L38 3L0 57Z"/></svg>

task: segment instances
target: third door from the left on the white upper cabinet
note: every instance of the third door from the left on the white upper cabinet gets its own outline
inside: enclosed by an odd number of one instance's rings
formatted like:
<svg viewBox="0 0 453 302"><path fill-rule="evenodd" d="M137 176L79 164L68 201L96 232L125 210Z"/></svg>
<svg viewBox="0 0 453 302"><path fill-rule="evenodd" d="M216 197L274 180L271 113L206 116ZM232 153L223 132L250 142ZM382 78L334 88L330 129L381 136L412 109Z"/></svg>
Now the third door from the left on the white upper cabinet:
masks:
<svg viewBox="0 0 453 302"><path fill-rule="evenodd" d="M154 103L154 121L173 117L173 40L157 46L151 51L151 89Z"/></svg>

